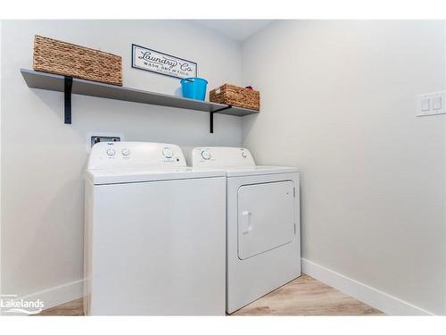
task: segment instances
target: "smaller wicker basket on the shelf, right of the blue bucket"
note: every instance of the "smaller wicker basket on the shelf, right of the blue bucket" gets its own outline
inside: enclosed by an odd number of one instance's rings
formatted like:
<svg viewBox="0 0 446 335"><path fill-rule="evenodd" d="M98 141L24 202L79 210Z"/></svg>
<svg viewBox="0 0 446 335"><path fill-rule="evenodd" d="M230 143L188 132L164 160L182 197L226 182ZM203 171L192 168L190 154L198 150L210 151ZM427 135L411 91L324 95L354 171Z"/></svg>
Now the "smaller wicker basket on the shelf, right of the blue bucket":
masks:
<svg viewBox="0 0 446 335"><path fill-rule="evenodd" d="M209 99L212 103L260 110L260 92L235 85L224 84L219 88L212 89Z"/></svg>

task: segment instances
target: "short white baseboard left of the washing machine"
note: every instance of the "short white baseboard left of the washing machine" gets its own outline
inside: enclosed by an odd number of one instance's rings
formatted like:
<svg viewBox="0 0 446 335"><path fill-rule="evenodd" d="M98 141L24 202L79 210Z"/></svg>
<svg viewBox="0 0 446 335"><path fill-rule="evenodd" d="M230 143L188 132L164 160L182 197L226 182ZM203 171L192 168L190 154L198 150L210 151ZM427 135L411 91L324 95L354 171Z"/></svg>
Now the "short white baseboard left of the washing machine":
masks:
<svg viewBox="0 0 446 335"><path fill-rule="evenodd" d="M71 300L76 300L84 295L84 280L71 281L61 286L56 286L51 289L45 289L40 292L31 293L24 297L19 297L15 300L29 300L36 301L37 299L43 301L44 310L68 303Z"/></svg>

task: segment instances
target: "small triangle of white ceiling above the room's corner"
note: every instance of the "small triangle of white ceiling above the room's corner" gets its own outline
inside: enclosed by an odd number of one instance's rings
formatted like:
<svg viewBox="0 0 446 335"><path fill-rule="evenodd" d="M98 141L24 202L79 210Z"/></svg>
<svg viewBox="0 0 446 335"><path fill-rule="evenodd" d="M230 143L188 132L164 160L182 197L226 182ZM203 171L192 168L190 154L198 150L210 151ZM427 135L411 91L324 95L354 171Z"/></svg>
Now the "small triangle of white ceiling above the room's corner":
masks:
<svg viewBox="0 0 446 335"><path fill-rule="evenodd" d="M194 22L219 31L219 33L244 41L252 34L267 26L272 20L194 20Z"/></svg>

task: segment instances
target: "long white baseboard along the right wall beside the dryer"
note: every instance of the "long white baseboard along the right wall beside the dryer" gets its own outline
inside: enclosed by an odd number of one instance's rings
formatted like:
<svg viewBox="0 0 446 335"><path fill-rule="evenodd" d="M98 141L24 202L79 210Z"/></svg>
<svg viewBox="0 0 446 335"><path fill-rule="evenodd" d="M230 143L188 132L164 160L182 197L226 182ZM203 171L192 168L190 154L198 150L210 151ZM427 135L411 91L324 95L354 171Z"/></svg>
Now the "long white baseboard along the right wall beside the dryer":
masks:
<svg viewBox="0 0 446 335"><path fill-rule="evenodd" d="M388 315L434 315L398 297L374 289L341 273L302 258L302 272Z"/></svg>

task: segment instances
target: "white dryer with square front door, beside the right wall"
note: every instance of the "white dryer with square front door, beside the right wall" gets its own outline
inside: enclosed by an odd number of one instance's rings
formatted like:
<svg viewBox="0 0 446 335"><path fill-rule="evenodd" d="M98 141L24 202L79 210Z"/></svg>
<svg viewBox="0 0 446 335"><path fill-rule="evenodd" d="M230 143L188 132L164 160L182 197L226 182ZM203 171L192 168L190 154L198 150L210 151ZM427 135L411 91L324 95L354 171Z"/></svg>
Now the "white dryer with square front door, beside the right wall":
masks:
<svg viewBox="0 0 446 335"><path fill-rule="evenodd" d="M227 313L301 275L299 171L249 150L195 147L194 168L227 172Z"/></svg>

